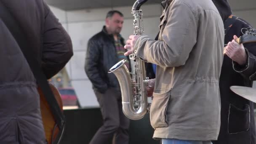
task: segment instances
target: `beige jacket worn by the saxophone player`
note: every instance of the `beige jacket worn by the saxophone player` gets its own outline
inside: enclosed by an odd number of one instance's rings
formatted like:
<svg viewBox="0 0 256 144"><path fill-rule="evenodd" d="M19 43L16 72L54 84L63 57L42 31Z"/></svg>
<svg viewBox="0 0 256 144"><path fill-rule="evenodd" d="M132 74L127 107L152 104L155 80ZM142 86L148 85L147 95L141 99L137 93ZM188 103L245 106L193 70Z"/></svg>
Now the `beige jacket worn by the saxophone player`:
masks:
<svg viewBox="0 0 256 144"><path fill-rule="evenodd" d="M224 25L211 0L172 0L159 40L141 36L137 55L157 64L150 109L154 138L216 140Z"/></svg>

